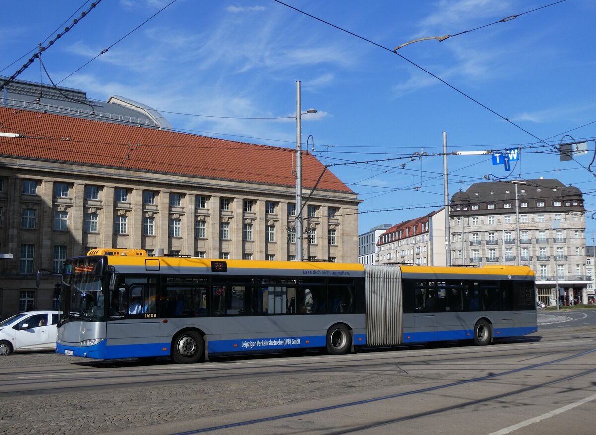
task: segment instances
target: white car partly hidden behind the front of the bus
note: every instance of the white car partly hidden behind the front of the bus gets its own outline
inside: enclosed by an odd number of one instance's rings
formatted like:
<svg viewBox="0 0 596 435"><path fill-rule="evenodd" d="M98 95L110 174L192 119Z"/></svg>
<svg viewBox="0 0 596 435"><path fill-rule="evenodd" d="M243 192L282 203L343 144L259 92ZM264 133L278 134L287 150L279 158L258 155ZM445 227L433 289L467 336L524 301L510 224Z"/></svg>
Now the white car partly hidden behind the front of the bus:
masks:
<svg viewBox="0 0 596 435"><path fill-rule="evenodd" d="M0 355L56 348L57 311L29 311L0 322Z"/></svg>

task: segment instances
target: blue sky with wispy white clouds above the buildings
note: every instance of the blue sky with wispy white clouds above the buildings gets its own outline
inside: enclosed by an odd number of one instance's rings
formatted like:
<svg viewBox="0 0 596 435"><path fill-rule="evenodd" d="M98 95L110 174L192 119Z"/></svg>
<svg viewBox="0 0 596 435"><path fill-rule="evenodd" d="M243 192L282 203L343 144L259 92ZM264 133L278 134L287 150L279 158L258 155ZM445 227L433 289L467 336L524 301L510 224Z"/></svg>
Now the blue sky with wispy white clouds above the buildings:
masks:
<svg viewBox="0 0 596 435"><path fill-rule="evenodd" d="M178 0L120 40L171 0L103 0L42 58L54 83L89 98L122 95L162 111L178 130L287 148L295 146L300 80L303 111L318 110L302 118L303 142L313 136L322 163L398 159L330 168L363 201L360 232L440 207L443 131L449 153L521 146L510 172L491 156L449 156L449 194L485 175L557 178L584 192L591 244L596 2L548 6L556 1L287 0L364 41L272 0ZM11 76L79 7L89 2L5 4L0 74ZM18 78L40 77L49 83L36 61ZM581 139L589 140L587 156L560 162L552 152L561 140ZM414 153L429 156L408 159ZM378 211L385 209L395 210Z"/></svg>

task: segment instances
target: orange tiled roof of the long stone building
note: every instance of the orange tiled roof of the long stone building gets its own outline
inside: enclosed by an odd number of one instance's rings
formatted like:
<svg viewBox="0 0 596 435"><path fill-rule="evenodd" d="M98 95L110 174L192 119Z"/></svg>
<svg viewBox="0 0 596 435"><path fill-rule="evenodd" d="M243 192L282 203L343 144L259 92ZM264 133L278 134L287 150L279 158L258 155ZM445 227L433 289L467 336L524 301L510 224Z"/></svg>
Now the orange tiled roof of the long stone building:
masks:
<svg viewBox="0 0 596 435"><path fill-rule="evenodd" d="M295 150L207 136L0 107L0 154L209 179L294 186ZM324 166L308 151L302 184L312 188ZM329 170L317 189L352 192Z"/></svg>

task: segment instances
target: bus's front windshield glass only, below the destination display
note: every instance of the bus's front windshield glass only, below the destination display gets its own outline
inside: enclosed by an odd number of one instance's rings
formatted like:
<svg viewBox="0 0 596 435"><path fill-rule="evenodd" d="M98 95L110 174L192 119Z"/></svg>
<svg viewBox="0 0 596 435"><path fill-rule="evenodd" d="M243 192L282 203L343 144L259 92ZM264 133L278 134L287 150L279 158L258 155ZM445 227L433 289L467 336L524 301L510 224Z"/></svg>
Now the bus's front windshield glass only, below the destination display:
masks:
<svg viewBox="0 0 596 435"><path fill-rule="evenodd" d="M74 276L63 281L60 291L60 319L78 317L87 321L105 319L105 289L100 276Z"/></svg>

